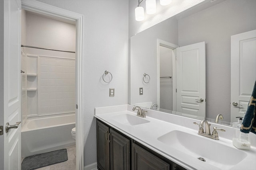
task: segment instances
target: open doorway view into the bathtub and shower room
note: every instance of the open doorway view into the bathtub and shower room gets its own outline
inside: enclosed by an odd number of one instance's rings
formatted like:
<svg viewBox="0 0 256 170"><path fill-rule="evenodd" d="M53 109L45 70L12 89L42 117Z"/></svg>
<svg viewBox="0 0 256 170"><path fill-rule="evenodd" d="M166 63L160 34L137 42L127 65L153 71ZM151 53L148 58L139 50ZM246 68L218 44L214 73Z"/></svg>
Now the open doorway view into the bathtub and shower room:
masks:
<svg viewBox="0 0 256 170"><path fill-rule="evenodd" d="M21 157L66 149L75 169L75 22L22 10L21 23Z"/></svg>

